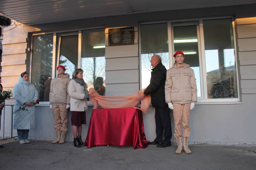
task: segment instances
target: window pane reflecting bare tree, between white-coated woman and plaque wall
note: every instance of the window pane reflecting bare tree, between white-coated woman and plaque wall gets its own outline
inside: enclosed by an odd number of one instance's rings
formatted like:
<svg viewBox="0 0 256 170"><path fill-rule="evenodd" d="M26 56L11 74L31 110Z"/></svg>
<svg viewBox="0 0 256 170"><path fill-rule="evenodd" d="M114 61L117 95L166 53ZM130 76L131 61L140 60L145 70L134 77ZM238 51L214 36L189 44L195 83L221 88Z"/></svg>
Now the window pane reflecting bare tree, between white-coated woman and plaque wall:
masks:
<svg viewBox="0 0 256 170"><path fill-rule="evenodd" d="M84 70L84 81L88 88L105 95L105 28L82 31L82 59L81 68Z"/></svg>

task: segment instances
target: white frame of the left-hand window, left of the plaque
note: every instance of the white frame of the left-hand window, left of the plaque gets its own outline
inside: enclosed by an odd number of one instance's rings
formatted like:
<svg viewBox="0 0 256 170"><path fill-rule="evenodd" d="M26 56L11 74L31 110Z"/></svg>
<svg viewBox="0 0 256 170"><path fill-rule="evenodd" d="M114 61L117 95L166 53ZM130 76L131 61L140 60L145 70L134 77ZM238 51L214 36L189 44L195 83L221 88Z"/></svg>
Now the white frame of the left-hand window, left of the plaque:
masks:
<svg viewBox="0 0 256 170"><path fill-rule="evenodd" d="M72 29L72 30L61 30L61 31L52 31L52 32L42 32L42 33L32 33L31 34L31 49L33 50L33 36L34 35L44 35L44 34L52 34L53 33L53 47L52 47L52 78L55 78L57 76L57 70L56 70L56 57L58 57L58 54L56 54L56 50L58 49L58 45L56 44L57 42L57 33L63 33L65 35L68 34L76 34L78 35L78 65L77 68L81 68L81 61L82 61L82 31L83 30L90 30L90 29L98 29L98 28L104 28L106 29L105 26L100 26L100 27L89 27L89 28L80 28L80 29ZM73 31L78 31L78 33L71 33ZM70 33L67 33L70 32ZM105 34L106 35L106 34ZM106 42L106 40L105 40ZM60 43L60 42L58 42ZM58 62L58 61L57 61ZM29 63L29 82L31 83L31 72L32 72L32 52L30 52L30 63ZM89 101L87 101L88 103ZM89 104L89 103L88 103ZM37 106L49 106L49 101L40 101L40 104ZM90 104L93 105L93 104Z"/></svg>

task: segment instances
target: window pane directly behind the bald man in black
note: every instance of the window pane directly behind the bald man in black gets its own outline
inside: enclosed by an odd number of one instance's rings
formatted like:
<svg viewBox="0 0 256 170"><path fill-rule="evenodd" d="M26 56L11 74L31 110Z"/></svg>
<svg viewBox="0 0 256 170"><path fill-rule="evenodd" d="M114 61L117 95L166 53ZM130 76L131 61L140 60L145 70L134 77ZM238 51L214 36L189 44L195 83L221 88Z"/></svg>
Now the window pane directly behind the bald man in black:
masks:
<svg viewBox="0 0 256 170"><path fill-rule="evenodd" d="M162 64L169 69L167 23L140 26L141 41L141 87L149 85L151 77L150 60L152 55L160 55Z"/></svg>

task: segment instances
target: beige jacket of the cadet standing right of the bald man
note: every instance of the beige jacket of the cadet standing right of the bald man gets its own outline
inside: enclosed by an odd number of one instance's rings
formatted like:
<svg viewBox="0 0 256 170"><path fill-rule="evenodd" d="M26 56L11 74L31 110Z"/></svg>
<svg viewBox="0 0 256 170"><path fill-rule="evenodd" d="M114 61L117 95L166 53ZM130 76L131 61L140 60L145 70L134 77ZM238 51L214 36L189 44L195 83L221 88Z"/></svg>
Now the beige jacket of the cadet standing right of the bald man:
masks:
<svg viewBox="0 0 256 170"><path fill-rule="evenodd" d="M166 72L165 102L186 104L197 101L196 78L188 64L178 67L176 63Z"/></svg>

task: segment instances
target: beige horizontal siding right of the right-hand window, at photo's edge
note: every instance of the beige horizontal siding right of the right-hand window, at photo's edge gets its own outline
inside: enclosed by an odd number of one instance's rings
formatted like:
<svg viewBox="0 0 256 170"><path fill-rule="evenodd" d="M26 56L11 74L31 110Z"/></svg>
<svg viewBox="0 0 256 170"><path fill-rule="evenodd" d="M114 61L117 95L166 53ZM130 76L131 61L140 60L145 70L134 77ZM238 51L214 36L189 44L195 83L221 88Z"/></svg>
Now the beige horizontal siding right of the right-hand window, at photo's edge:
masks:
<svg viewBox="0 0 256 170"><path fill-rule="evenodd" d="M256 94L256 17L236 19L242 94Z"/></svg>

